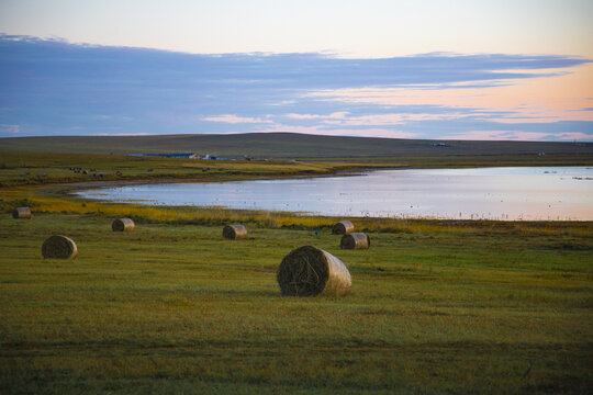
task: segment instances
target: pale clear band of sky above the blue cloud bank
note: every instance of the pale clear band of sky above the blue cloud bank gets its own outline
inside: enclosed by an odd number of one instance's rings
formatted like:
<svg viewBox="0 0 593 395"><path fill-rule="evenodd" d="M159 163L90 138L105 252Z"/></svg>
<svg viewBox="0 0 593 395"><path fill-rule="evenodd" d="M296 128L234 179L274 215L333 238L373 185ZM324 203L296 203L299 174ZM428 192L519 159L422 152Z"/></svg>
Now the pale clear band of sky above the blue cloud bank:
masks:
<svg viewBox="0 0 593 395"><path fill-rule="evenodd" d="M201 54L593 57L593 1L2 0L0 32Z"/></svg>

